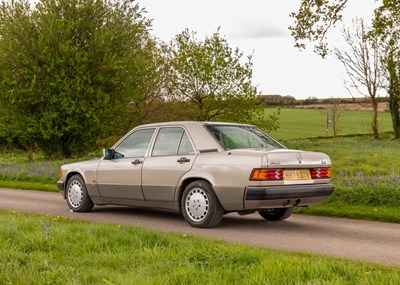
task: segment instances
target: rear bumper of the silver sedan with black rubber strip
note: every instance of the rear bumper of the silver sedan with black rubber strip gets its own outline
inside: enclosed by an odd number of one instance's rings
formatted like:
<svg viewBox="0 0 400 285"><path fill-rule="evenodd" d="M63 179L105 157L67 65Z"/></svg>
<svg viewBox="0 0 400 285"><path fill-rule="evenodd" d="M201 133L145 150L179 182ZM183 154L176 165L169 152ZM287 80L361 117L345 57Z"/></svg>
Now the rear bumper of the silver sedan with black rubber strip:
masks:
<svg viewBox="0 0 400 285"><path fill-rule="evenodd" d="M282 208L322 203L333 193L332 184L247 187L245 209Z"/></svg>

